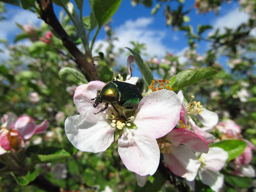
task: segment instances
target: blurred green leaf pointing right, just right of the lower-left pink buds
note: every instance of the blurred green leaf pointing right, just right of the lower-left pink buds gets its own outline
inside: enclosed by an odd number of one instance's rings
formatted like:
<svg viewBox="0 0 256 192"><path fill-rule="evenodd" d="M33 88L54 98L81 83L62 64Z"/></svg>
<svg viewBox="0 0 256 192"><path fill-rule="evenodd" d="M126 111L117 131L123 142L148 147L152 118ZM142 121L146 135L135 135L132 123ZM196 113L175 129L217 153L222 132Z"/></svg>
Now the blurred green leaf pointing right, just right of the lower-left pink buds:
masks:
<svg viewBox="0 0 256 192"><path fill-rule="evenodd" d="M38 163L51 163L52 161L60 161L70 157L70 153L59 147L45 147L34 154L32 157L33 161Z"/></svg>

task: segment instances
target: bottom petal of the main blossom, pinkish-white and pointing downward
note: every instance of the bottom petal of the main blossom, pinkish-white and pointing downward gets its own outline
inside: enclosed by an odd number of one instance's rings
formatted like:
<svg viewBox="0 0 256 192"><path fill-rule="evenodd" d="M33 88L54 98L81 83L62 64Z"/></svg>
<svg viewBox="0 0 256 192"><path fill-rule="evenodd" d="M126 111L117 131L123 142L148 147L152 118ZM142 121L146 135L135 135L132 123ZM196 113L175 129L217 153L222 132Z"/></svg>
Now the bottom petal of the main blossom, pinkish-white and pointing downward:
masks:
<svg viewBox="0 0 256 192"><path fill-rule="evenodd" d="M159 165L160 151L150 132L141 129L124 129L118 139L118 154L131 172L153 175Z"/></svg>

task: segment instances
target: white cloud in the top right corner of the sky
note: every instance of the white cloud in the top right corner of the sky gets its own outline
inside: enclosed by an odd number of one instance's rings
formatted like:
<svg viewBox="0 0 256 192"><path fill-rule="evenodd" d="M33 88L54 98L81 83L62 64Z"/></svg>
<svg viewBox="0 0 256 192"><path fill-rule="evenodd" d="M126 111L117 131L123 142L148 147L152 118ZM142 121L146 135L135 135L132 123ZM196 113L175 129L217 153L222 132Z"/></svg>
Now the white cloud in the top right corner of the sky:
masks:
<svg viewBox="0 0 256 192"><path fill-rule="evenodd" d="M220 32L224 32L224 28L236 29L243 22L248 21L249 15L247 13L239 11L239 8L230 10L226 15L218 17L218 19L212 22L213 31L220 28Z"/></svg>

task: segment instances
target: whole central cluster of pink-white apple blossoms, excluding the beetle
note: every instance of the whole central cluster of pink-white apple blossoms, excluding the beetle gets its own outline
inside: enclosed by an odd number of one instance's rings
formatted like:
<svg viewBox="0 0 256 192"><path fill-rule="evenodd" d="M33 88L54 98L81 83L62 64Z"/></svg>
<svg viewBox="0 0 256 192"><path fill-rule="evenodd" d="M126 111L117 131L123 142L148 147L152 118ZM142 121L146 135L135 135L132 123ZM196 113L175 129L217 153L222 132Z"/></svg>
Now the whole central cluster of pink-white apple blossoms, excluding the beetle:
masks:
<svg viewBox="0 0 256 192"><path fill-rule="evenodd" d="M136 80L132 82L135 84ZM65 120L68 140L79 150L93 153L104 152L116 142L120 158L128 170L136 173L139 186L154 175L163 154L166 167L186 179L192 189L199 175L204 184L218 191L223 185L219 171L228 154L219 147L209 148L214 136L193 120L196 118L205 127L212 127L218 123L218 115L202 108L195 97L187 102L182 92L176 94L168 83L152 82L136 110L113 105L101 113L98 112L104 103L94 108L93 98L106 83L91 81L78 86L74 104L80 115ZM214 177L209 178L211 174Z"/></svg>

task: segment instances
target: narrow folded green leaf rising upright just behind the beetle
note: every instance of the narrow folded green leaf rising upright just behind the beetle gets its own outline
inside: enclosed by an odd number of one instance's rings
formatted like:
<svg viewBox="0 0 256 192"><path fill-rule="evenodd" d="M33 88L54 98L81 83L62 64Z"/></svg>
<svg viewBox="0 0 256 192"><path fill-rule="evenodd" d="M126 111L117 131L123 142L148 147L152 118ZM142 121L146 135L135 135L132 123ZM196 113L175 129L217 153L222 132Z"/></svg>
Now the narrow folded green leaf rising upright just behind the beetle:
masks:
<svg viewBox="0 0 256 192"><path fill-rule="evenodd" d="M125 47L126 49L129 49L129 51L131 51L131 53L133 54L134 58L135 58L135 63L138 65L143 81L147 84L147 86L150 86L151 81L153 80L153 76L152 76L152 72L150 70L150 68L148 67L147 63L145 63L140 54L138 54L137 52L133 51L132 49Z"/></svg>

